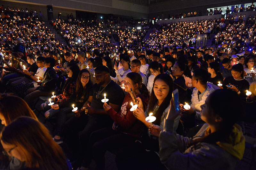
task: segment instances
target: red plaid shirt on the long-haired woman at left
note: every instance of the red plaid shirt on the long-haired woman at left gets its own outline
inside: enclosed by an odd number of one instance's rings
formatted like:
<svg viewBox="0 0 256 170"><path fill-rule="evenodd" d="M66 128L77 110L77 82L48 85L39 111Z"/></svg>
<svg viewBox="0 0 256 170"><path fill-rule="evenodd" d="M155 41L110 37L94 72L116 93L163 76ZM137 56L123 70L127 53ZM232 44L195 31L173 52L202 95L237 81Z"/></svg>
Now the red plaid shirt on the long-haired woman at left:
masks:
<svg viewBox="0 0 256 170"><path fill-rule="evenodd" d="M65 87L63 93L56 96L60 99L56 102L56 104L60 104L64 101L67 101L70 98L70 96L75 92L76 92L76 82L69 82L68 85Z"/></svg>

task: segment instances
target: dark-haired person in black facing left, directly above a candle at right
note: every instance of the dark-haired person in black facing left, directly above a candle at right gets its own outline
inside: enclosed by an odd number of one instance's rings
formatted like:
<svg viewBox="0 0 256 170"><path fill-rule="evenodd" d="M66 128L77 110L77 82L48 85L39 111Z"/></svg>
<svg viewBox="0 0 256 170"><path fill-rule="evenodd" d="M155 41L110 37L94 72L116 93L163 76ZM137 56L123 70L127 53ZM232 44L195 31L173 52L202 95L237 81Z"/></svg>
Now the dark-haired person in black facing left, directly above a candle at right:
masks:
<svg viewBox="0 0 256 170"><path fill-rule="evenodd" d="M223 77L220 73L220 64L218 62L209 63L208 73L211 75L208 76L208 83L218 85L219 82L222 83Z"/></svg>

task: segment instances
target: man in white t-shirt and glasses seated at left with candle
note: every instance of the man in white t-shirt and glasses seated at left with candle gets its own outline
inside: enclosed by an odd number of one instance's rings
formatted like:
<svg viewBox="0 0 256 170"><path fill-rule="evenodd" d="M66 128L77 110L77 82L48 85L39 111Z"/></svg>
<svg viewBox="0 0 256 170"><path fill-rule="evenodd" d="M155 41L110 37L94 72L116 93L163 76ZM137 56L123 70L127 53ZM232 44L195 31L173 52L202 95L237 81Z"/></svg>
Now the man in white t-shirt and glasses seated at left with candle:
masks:
<svg viewBox="0 0 256 170"><path fill-rule="evenodd" d="M38 66L38 69L35 73L35 75L30 75L28 71L24 71L26 75L28 75L31 79L31 83L20 83L18 85L15 85L12 87L12 90L21 98L25 97L25 93L29 88L38 87L37 80L43 80L44 73L46 71L46 68L44 67L44 57L37 57L36 65Z"/></svg>

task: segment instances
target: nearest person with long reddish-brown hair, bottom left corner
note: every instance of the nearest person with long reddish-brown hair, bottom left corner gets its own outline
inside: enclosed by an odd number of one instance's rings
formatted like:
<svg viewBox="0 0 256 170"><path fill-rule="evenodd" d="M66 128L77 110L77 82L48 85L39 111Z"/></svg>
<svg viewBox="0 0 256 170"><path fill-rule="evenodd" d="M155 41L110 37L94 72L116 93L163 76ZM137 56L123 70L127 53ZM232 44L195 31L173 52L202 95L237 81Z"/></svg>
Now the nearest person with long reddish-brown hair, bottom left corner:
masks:
<svg viewBox="0 0 256 170"><path fill-rule="evenodd" d="M31 117L19 117L10 123L2 130L0 139L4 150L24 164L19 169L72 169L49 131Z"/></svg>

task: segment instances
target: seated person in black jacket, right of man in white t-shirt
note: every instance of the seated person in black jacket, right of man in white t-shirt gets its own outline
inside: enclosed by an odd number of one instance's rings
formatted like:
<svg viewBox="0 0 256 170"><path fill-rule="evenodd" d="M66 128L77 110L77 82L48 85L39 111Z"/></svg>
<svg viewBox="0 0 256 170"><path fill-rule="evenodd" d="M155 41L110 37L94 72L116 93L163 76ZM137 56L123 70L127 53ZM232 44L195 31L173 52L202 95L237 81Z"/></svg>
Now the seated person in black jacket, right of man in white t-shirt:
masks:
<svg viewBox="0 0 256 170"><path fill-rule="evenodd" d="M43 80L37 83L39 85L38 87L32 87L28 89L27 95L24 98L30 108L33 108L34 99L39 96L51 94L54 91L56 83L58 81L58 76L53 69L55 60L51 57L47 57L45 58L44 62L44 67L46 68L46 71L44 73Z"/></svg>

